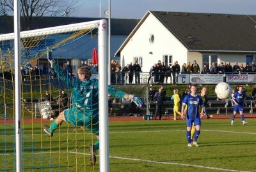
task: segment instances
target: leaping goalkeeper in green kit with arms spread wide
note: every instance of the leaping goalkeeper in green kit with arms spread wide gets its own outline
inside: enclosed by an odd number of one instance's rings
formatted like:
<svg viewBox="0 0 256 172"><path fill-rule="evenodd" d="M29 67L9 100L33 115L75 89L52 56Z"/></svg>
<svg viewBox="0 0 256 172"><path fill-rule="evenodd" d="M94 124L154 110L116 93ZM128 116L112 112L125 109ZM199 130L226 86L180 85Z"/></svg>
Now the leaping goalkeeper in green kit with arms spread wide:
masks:
<svg viewBox="0 0 256 172"><path fill-rule="evenodd" d="M72 108L61 111L60 115L51 123L51 126L45 124L43 130L49 137L52 137L54 131L62 122L83 125L97 137L97 142L90 146L90 162L95 164L95 154L99 150L99 81L90 79L92 75L91 66L79 66L77 76L70 76L58 66L48 51L47 57L58 77L72 89ZM112 97L130 99L137 106L143 106L144 104L140 97L127 94L122 90L111 87L111 85L108 85L108 92Z"/></svg>

